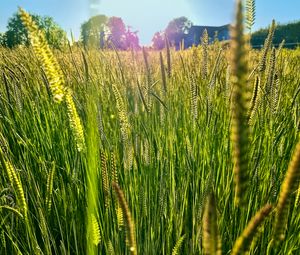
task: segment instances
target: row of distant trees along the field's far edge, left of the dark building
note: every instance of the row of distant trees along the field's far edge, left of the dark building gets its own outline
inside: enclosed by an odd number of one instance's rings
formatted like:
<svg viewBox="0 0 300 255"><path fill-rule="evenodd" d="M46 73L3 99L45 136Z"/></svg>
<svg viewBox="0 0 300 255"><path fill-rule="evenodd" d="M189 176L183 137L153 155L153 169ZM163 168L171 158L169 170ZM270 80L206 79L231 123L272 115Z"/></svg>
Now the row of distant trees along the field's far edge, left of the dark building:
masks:
<svg viewBox="0 0 300 255"><path fill-rule="evenodd" d="M53 48L61 49L68 43L66 32L52 17L31 14L38 27L45 32L46 40ZM171 20L167 27L156 32L152 38L152 48L160 50L165 47L166 38L170 44L178 45L189 32L192 22L186 17ZM0 33L0 46L13 48L28 46L27 31L23 27L18 13L8 20L7 30ZM77 44L86 48L108 48L118 50L140 49L138 31L132 30L120 17L96 15L80 27L80 39Z"/></svg>

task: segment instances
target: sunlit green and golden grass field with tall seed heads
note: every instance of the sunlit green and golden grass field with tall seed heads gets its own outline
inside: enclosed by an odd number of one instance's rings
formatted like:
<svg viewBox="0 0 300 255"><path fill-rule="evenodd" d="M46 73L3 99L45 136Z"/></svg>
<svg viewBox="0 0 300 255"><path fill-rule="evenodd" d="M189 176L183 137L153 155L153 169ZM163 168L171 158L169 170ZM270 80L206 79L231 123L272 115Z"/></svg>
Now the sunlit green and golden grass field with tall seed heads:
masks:
<svg viewBox="0 0 300 255"><path fill-rule="evenodd" d="M300 254L300 50L0 49L0 254ZM203 42L207 41L203 35ZM283 45L282 45L283 46Z"/></svg>

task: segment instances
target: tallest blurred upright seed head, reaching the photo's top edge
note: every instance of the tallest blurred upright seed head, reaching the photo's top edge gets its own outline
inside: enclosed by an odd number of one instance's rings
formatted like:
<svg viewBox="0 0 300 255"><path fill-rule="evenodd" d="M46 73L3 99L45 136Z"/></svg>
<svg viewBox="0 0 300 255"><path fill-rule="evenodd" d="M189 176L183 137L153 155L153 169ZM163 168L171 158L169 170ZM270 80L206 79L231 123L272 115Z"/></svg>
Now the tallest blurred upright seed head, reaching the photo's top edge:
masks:
<svg viewBox="0 0 300 255"><path fill-rule="evenodd" d="M245 192L248 186L248 85L247 85L247 48L243 28L243 5L237 2L236 23L231 34L231 68L232 68L232 130L233 143L235 203L247 203Z"/></svg>

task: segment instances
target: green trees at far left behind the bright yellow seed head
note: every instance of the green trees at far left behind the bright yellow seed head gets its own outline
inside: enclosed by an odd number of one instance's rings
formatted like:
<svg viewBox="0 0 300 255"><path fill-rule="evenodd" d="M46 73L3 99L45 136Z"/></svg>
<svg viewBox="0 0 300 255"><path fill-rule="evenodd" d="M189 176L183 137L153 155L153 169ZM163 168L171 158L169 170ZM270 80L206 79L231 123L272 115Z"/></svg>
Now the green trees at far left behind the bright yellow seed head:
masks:
<svg viewBox="0 0 300 255"><path fill-rule="evenodd" d="M46 40L50 46L60 48L66 44L66 33L55 23L53 18L39 15L31 16L37 26L45 32ZM19 13L15 13L8 21L5 45L10 48L17 45L29 45L27 30L22 24Z"/></svg>

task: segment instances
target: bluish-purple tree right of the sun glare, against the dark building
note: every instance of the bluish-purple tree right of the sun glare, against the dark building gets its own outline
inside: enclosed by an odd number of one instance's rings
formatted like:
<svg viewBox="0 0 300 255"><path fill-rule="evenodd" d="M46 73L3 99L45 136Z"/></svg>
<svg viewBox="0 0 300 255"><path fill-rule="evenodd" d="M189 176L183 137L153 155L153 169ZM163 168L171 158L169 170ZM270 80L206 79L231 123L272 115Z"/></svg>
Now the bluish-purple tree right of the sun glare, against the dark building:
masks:
<svg viewBox="0 0 300 255"><path fill-rule="evenodd" d="M188 18L179 17L169 22L165 34L170 43L178 47L184 36L189 33L192 25L193 23Z"/></svg>

